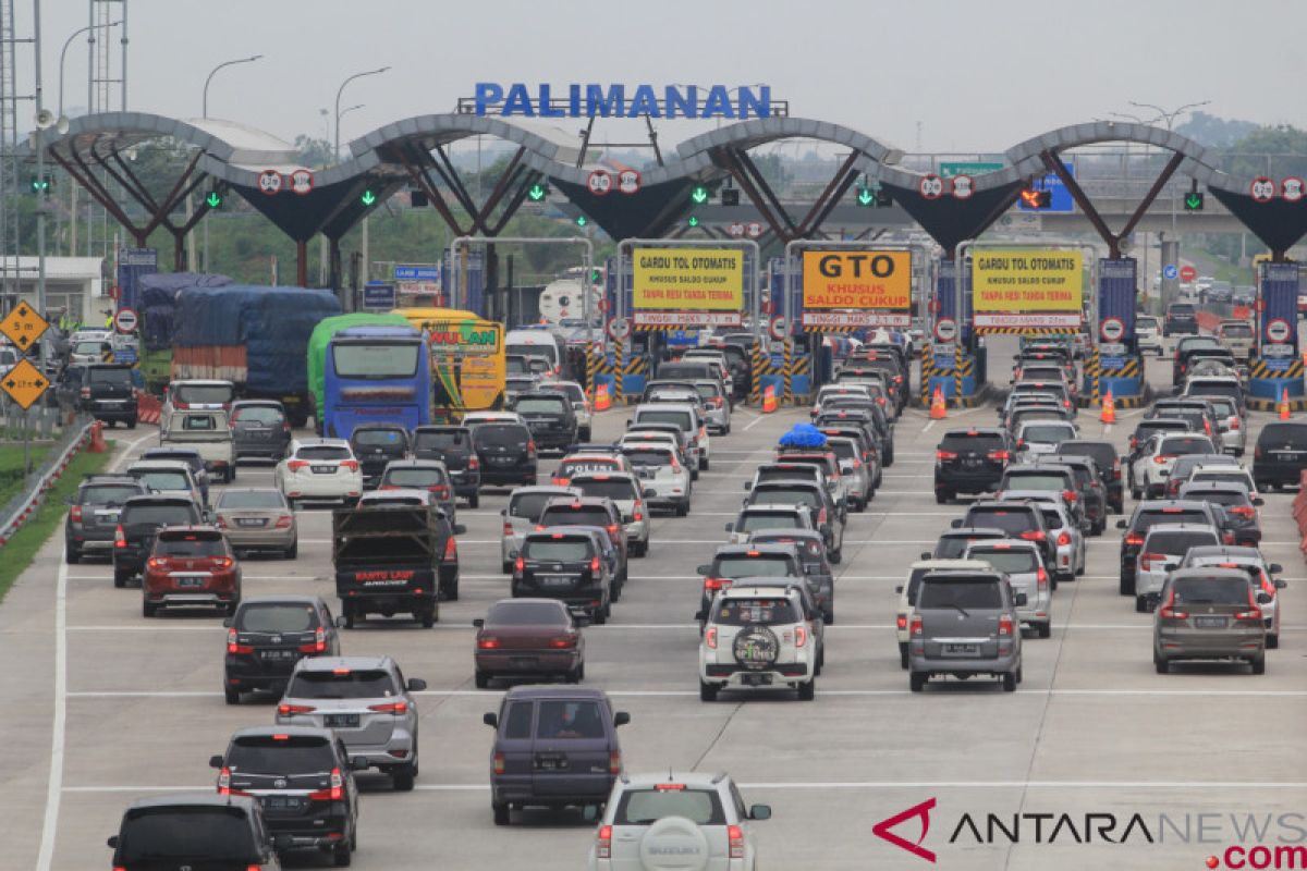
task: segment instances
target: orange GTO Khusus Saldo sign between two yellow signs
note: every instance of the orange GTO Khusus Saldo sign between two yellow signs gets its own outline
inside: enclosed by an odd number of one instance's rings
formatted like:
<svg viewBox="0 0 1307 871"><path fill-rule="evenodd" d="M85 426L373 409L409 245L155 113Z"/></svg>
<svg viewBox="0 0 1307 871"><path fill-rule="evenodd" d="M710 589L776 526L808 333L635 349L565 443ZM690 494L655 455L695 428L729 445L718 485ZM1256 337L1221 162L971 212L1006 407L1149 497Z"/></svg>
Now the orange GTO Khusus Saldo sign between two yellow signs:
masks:
<svg viewBox="0 0 1307 871"><path fill-rule="evenodd" d="M912 252L805 251L804 308L912 307Z"/></svg>

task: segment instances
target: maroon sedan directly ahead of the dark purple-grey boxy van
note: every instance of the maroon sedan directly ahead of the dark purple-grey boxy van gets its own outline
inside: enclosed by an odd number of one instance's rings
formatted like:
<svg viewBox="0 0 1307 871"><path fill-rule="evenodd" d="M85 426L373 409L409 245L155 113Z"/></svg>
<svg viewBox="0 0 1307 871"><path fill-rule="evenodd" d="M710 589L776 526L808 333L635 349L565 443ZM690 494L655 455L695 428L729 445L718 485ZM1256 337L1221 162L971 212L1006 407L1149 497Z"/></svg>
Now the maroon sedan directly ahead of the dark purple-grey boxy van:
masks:
<svg viewBox="0 0 1307 871"><path fill-rule="evenodd" d="M558 599L501 599L472 626L478 689L491 678L557 676L580 683L586 676L586 639Z"/></svg>

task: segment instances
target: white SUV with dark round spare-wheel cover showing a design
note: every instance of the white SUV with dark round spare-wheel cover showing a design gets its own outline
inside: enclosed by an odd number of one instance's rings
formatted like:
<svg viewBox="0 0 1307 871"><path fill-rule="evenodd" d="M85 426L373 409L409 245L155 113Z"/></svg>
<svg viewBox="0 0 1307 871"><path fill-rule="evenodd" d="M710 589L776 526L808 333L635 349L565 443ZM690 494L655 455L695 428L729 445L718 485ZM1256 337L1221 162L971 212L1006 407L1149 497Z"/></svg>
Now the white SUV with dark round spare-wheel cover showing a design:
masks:
<svg viewBox="0 0 1307 871"><path fill-rule="evenodd" d="M699 642L699 699L715 701L721 689L791 687L800 700L813 700L821 612L801 585L753 586L741 578L718 594Z"/></svg>

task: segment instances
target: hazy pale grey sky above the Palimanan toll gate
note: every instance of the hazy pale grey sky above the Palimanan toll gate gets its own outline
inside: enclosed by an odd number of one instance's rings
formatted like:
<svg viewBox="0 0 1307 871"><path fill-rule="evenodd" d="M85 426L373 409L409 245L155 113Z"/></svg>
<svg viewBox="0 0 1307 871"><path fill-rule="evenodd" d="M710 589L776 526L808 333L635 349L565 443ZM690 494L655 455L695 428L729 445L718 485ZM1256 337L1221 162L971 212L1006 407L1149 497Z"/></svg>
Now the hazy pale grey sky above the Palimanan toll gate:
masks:
<svg viewBox="0 0 1307 871"><path fill-rule="evenodd" d="M450 111L477 81L771 85L791 114L928 151L997 151L1128 101L1307 125L1304 0L127 0L129 108L209 114L285 138L328 136L341 81L349 141ZM33 0L14 0L20 35ZM88 0L42 0L46 104ZM1293 39L1281 38L1294 35ZM86 103L86 44L68 51L69 108ZM30 72L30 52L22 65ZM22 112L24 110L20 110ZM20 127L29 127L22 119ZM639 133L608 121L609 140ZM565 120L562 125L575 128ZM665 124L673 146L707 123Z"/></svg>

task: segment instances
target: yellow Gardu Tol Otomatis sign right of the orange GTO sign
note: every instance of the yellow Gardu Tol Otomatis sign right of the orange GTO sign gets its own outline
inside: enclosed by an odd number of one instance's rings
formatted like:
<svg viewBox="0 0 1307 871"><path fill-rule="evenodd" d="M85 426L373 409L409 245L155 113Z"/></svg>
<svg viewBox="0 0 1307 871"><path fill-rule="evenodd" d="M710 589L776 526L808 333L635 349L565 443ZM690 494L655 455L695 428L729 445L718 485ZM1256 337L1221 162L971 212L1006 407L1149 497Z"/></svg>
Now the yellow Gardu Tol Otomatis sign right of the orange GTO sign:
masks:
<svg viewBox="0 0 1307 871"><path fill-rule="evenodd" d="M979 312L1081 312L1085 273L1080 251L978 249L971 287Z"/></svg>

